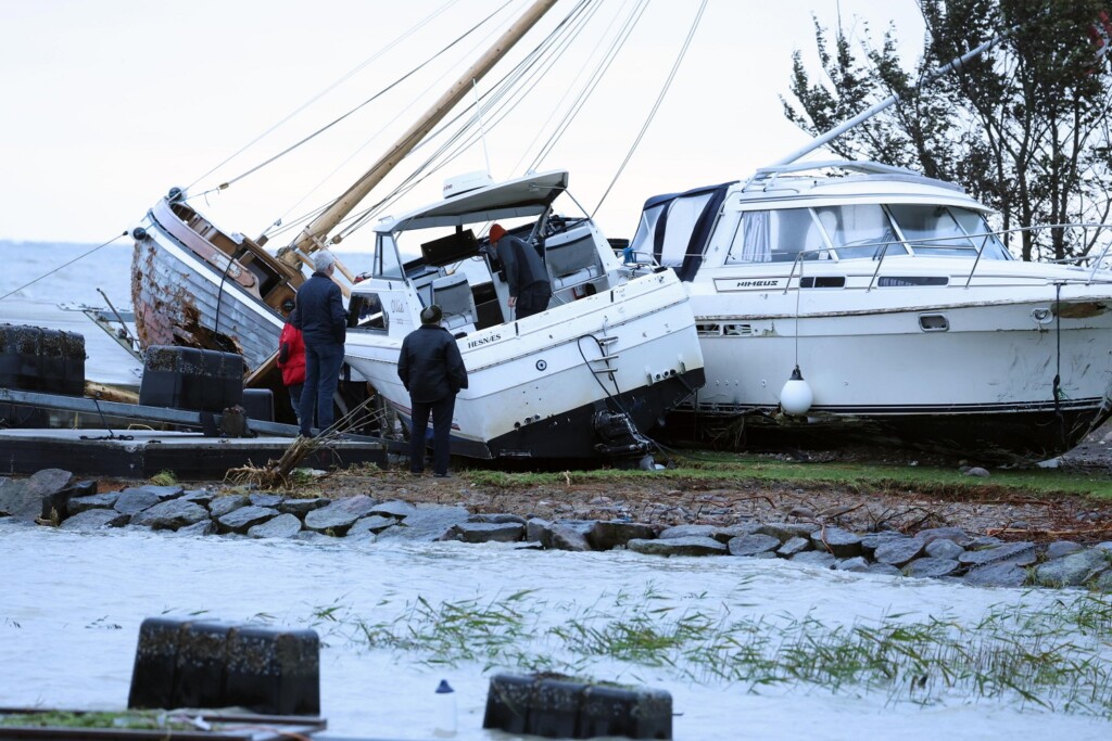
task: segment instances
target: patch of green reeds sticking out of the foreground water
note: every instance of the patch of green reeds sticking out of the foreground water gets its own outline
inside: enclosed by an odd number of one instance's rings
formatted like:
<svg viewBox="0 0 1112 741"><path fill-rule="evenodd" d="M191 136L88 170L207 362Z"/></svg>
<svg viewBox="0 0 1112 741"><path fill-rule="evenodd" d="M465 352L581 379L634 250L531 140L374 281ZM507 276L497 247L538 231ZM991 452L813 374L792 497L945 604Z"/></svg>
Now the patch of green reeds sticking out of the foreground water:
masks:
<svg viewBox="0 0 1112 741"><path fill-rule="evenodd" d="M744 605L697 594L682 605L652 588L588 605L550 603L528 590L458 602L418 598L400 609L385 599L376 613L393 608L393 617L374 622L338 605L317 612L350 644L427 665L477 662L484 671L587 677L610 661L633 677L653 669L753 693L881 693L888 702L922 704L996 700L1112 718L1109 600L1072 595L1019 612L1002 605L966 624L903 614L851 623L813 614L738 617L731 607Z"/></svg>

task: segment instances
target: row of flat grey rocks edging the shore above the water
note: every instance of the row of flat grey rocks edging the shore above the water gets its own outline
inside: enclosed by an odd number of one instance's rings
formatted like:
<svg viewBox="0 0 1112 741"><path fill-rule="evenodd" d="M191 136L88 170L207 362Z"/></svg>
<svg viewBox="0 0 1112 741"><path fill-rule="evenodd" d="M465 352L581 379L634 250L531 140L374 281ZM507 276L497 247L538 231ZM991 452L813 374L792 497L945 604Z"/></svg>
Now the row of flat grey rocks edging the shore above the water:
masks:
<svg viewBox="0 0 1112 741"><path fill-rule="evenodd" d="M527 549L651 555L785 559L814 568L959 580L976 587L1082 587L1112 591L1112 541L1004 541L956 527L854 532L832 524L635 522L477 512L458 503L413 503L367 494L301 498L215 488L142 484L100 491L59 469L0 479L0 517L61 530L146 528L183 535L349 542L455 540Z"/></svg>

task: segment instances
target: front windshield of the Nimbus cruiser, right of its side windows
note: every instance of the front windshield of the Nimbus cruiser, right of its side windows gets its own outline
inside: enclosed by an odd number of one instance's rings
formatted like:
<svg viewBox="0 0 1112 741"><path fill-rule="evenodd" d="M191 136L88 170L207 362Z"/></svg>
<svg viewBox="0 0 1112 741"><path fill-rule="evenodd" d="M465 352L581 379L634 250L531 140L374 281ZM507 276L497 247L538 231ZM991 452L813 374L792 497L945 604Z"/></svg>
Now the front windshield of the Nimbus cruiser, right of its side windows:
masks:
<svg viewBox="0 0 1112 741"><path fill-rule="evenodd" d="M888 209L915 254L1007 260L1007 249L976 211L946 206L900 203Z"/></svg>

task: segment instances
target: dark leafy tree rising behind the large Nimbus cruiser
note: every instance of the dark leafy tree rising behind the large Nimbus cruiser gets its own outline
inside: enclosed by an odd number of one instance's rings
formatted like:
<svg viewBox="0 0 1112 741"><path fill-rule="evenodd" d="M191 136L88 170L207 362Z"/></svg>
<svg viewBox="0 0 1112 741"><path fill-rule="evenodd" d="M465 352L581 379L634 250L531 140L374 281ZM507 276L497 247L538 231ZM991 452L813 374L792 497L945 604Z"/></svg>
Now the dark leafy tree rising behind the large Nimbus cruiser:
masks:
<svg viewBox="0 0 1112 741"><path fill-rule="evenodd" d="M919 0L926 26L909 73L893 29L860 56L840 28L815 21L825 84L793 56L788 120L818 134L877 100L900 102L827 147L845 158L909 167L961 183L1001 212L1002 229L1103 222L1112 198L1112 13L1104 0ZM867 27L866 27L867 40ZM1000 42L961 69L919 84L982 41ZM1095 229L1017 231L1024 260L1095 256Z"/></svg>

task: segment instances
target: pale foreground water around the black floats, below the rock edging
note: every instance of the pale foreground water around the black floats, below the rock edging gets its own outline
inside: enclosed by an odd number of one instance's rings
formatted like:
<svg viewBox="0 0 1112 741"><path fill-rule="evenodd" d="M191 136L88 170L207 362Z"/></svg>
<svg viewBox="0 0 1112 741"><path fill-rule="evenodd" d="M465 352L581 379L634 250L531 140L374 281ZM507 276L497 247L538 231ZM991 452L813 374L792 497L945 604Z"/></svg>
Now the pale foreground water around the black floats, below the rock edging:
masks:
<svg viewBox="0 0 1112 741"><path fill-rule="evenodd" d="M715 678L697 641L661 648L654 655L665 661L656 662L603 655L588 645L615 635L616 625L649 633L679 615L717 627L768 625L772 635L801 620L812 624L807 630L836 631L862 621L933 618L960 641L975 641L987 615L1053 612L1073 593L971 589L725 557L73 534L10 524L0 524L0 707L122 708L143 618L201 614L317 630L322 714L332 735L431 738L434 689L447 679L457 690L456 738L506 739L480 728L489 677L540 665L669 691L674 735L687 741L1105 739L1112 732L1091 712L1063 711L1064 701L1049 710L1024 707L1014 693L979 698L941 684L907 700L902 679L887 688L850 682L837 691L830 683L751 687ZM467 611L477 617L470 628L449 619ZM1023 642L1021 633L1015 638ZM1106 633L1061 639L1092 647L1106 664Z"/></svg>

